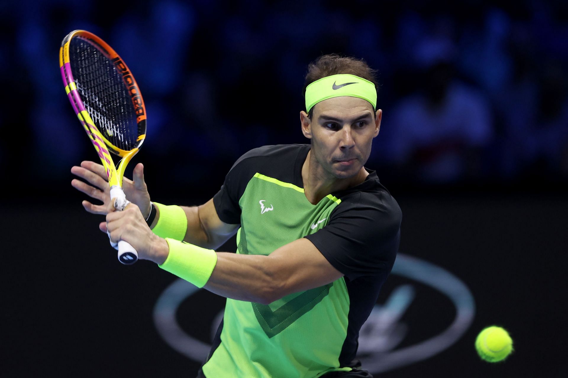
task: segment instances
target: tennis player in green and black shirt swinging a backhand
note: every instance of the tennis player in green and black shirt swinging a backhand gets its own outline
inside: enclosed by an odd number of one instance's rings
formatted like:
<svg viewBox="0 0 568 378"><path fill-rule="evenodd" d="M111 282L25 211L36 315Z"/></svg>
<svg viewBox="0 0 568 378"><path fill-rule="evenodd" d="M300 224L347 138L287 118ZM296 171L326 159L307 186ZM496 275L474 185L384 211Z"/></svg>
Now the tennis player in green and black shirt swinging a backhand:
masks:
<svg viewBox="0 0 568 378"><path fill-rule="evenodd" d="M151 202L143 167L114 211L101 165L83 162L73 186L103 201L102 231L141 259L227 298L198 377L371 377L358 334L395 261L402 214L364 167L381 126L374 70L321 56L308 67L309 145L254 148L197 207ZM237 233L237 253L215 252Z"/></svg>

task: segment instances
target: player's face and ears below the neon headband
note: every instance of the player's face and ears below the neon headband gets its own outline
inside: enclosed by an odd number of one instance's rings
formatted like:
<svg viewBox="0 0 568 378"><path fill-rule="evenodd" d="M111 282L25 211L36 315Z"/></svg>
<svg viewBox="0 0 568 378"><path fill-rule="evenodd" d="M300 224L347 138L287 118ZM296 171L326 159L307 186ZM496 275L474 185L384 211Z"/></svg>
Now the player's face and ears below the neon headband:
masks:
<svg viewBox="0 0 568 378"><path fill-rule="evenodd" d="M356 176L369 159L373 138L379 133L382 111L358 97L320 101L312 119L300 113L302 132L311 139L311 154L324 171L337 179Z"/></svg>

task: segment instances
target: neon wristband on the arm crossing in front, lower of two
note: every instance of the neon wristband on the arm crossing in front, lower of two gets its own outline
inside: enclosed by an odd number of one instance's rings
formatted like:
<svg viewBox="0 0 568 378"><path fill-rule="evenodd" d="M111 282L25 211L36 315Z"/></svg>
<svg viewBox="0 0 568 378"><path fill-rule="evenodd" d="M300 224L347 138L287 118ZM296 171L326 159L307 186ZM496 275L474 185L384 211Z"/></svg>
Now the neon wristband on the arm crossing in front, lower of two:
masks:
<svg viewBox="0 0 568 378"><path fill-rule="evenodd" d="M197 287L205 286L217 264L217 253L169 237L166 241L170 252L164 264L158 266Z"/></svg>

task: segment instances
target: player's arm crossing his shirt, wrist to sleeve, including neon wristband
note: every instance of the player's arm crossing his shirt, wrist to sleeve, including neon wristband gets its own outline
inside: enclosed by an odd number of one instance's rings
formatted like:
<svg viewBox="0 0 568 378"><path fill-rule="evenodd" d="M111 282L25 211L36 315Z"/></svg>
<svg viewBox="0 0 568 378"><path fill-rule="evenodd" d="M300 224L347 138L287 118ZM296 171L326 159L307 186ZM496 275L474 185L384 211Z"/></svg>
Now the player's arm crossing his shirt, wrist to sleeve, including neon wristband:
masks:
<svg viewBox="0 0 568 378"><path fill-rule="evenodd" d="M285 244L268 256L215 252L172 239L160 239L156 247L152 260L162 269L236 300L268 304L343 276L305 238Z"/></svg>

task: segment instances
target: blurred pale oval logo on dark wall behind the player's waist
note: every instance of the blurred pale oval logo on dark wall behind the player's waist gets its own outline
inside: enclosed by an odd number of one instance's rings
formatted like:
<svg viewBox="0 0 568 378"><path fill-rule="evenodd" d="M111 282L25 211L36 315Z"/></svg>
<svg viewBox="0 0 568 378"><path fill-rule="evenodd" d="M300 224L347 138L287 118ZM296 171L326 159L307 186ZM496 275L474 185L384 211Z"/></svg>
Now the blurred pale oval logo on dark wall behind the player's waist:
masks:
<svg viewBox="0 0 568 378"><path fill-rule="evenodd" d="M387 282L392 281L393 276L403 278L407 283L396 286L383 304L375 304L359 334L357 359L371 373L386 372L440 353L462 337L475 315L475 302L467 286L437 265L398 253ZM455 316L436 335L411 345L400 346L408 334L412 335L412 327L403 321L403 316L416 300L417 286L427 286L445 296L446 301L449 299L455 309ZM176 318L179 305L198 290L200 289L181 278L170 284L156 302L154 324L164 341L174 350L202 363L207 358L211 345L187 334ZM447 306L442 311L447 312L446 316L451 315ZM222 317L223 311L220 311L212 321L211 338Z"/></svg>

